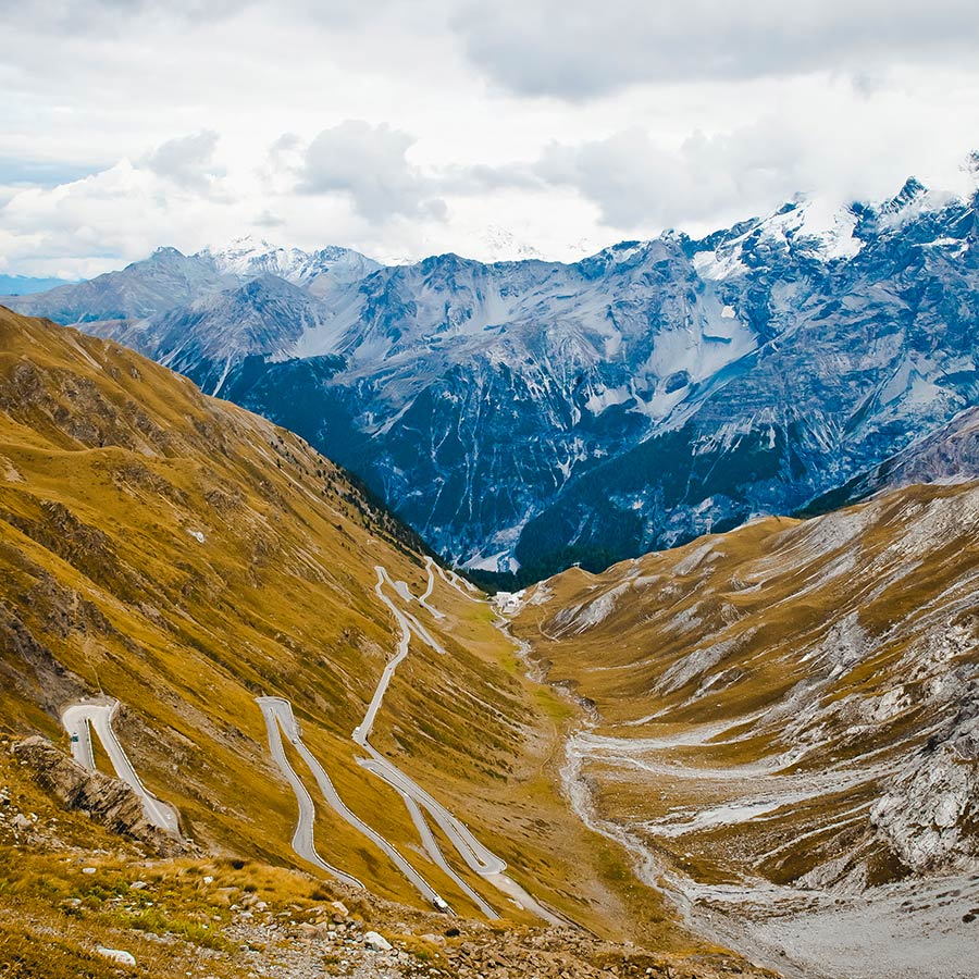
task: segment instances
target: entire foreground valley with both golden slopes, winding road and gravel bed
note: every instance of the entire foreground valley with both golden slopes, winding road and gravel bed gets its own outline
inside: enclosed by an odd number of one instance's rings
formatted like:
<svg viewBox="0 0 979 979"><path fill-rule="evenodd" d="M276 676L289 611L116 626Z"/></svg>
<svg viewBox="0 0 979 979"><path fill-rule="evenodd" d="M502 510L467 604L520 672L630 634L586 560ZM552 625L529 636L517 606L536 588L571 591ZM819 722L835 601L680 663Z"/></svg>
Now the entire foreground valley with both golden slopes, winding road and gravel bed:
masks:
<svg viewBox="0 0 979 979"><path fill-rule="evenodd" d="M491 602L294 433L0 310L0 961L971 979L976 430Z"/></svg>

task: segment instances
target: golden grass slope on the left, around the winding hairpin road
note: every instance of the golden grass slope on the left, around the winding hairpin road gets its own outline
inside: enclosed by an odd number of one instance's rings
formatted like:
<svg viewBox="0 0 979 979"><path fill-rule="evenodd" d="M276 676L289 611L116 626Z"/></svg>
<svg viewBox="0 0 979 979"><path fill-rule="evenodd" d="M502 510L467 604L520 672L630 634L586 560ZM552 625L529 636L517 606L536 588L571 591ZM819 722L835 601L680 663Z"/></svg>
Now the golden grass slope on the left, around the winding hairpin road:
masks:
<svg viewBox="0 0 979 979"><path fill-rule="evenodd" d="M64 744L66 703L116 697L120 740L186 834L298 866L296 803L255 703L285 696L347 804L474 914L400 798L356 764L350 733L397 640L375 565L424 590L417 538L300 438L114 344L0 309L0 729ZM666 940L650 929L658 901L627 909L621 855L560 798L568 705L524 678L484 600L441 580L430 600L445 619L413 614L448 656L412 643L374 744L536 897L605 933ZM323 856L417 903L307 781Z"/></svg>

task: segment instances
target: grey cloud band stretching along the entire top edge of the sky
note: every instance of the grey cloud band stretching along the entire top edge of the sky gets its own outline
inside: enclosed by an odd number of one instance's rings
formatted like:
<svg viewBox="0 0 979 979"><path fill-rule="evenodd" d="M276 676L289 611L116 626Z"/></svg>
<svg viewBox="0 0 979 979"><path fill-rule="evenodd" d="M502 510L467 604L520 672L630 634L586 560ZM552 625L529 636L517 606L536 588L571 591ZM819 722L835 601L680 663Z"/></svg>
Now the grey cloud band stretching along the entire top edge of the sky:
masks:
<svg viewBox="0 0 979 979"><path fill-rule="evenodd" d="M72 37L256 11L356 44L385 30L448 32L494 84L566 99L814 71L852 74L859 86L890 65L972 67L979 53L975 0L0 0L4 24Z"/></svg>

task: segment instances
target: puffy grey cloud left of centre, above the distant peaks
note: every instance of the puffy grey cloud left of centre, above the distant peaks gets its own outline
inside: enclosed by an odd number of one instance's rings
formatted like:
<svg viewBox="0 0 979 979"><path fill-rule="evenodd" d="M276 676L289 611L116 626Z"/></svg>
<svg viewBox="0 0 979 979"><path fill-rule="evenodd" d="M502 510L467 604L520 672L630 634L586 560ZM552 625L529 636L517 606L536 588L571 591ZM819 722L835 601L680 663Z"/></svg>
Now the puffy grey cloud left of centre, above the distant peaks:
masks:
<svg viewBox="0 0 979 979"><path fill-rule="evenodd" d="M346 194L371 223L396 215L444 220L445 202L435 183L411 164L413 137L386 124L347 120L324 129L302 159L298 189L303 194Z"/></svg>

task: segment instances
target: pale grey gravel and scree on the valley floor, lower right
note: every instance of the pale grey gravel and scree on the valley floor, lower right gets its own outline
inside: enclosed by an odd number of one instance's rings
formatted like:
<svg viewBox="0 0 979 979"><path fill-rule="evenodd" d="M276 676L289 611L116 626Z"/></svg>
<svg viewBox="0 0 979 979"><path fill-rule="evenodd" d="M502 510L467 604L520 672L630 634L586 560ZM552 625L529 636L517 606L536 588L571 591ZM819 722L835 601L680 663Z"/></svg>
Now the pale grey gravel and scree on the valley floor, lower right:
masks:
<svg viewBox="0 0 979 979"><path fill-rule="evenodd" d="M703 732L701 732L703 733ZM715 727L709 732L717 735ZM686 732L685 746L703 744L696 731ZM975 979L979 943L979 869L954 876L914 878L854 892L782 887L760 877L739 883L704 883L680 871L677 860L656 837L678 840L686 829L717 828L764 819L796 800L818 796L820 785L806 776L781 777L784 785L768 784L761 766L753 779L734 769L703 774L702 805L691 784L696 773L649 757L654 748L676 747L673 739L615 739L588 731L567 744L565 791L582 821L623 846L636 876L665 892L695 933L738 950L753 962L788 979ZM637 752L642 746L645 751ZM618 747L620 754L616 755ZM602 770L594 767L602 761ZM636 783L643 761L645 791L655 796L661 780L685 782L687 803L682 822L669 820L629 825L599 815L593 791L596 780ZM592 763L588 768L587 764ZM618 768L617 768L618 766ZM832 773L828 774L832 779ZM778 780L778 777L777 779ZM825 779L823 779L825 781ZM727 783L729 802L718 804L715 782ZM751 793L751 798L738 797ZM764 800L764 803L758 801ZM652 806L650 806L652 808ZM687 853L687 856L691 854Z"/></svg>

